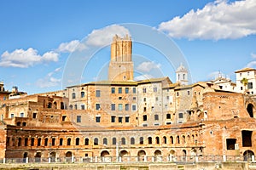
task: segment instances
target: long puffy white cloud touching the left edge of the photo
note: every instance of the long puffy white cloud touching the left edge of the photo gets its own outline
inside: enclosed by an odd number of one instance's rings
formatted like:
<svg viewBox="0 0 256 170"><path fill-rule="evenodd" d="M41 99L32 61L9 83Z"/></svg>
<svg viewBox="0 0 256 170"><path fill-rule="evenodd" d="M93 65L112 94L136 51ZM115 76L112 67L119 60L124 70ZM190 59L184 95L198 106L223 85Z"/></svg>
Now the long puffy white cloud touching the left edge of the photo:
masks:
<svg viewBox="0 0 256 170"><path fill-rule="evenodd" d="M38 51L33 48L24 49L15 49L15 51L9 53L5 51L0 59L0 66L4 67L20 67L27 68L29 66L49 62L49 61L58 61L59 54L55 52L47 52L43 56L38 54Z"/></svg>

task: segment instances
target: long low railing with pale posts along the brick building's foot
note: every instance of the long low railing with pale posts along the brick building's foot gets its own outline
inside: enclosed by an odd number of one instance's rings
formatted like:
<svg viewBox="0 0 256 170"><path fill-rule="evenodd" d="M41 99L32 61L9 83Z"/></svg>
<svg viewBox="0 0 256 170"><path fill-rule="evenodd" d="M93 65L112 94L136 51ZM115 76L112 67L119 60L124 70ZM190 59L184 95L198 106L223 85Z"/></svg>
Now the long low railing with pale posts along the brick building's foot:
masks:
<svg viewBox="0 0 256 170"><path fill-rule="evenodd" d="M0 163L101 163L101 162L256 162L254 156L92 156L3 158Z"/></svg>

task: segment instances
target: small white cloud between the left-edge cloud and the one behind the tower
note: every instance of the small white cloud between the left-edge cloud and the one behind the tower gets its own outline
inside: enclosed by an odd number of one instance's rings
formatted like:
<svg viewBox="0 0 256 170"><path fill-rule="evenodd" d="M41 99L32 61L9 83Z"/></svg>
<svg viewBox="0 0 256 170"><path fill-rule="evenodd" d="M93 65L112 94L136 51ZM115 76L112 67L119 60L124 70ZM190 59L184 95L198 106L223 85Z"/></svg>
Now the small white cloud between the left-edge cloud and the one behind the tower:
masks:
<svg viewBox="0 0 256 170"><path fill-rule="evenodd" d="M82 51L85 48L86 46L79 42L79 40L73 40L71 42L62 42L59 48L57 48L57 51L61 53L73 53L75 50Z"/></svg>

